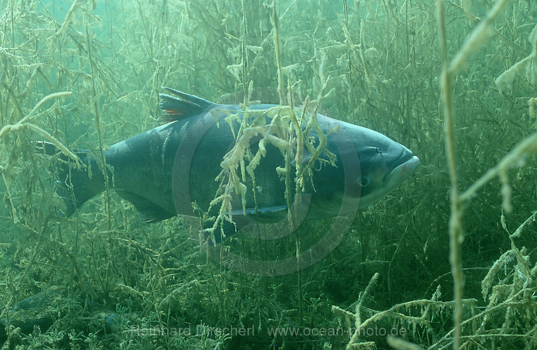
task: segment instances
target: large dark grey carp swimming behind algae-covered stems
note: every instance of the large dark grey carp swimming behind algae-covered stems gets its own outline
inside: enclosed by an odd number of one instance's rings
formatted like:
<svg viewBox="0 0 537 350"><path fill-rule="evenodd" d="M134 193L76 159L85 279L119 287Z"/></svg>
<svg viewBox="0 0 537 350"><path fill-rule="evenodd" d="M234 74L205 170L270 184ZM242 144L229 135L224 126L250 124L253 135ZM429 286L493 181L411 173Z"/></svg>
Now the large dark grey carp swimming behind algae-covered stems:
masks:
<svg viewBox="0 0 537 350"><path fill-rule="evenodd" d="M222 171L222 161L235 145L244 106L214 103L169 87L164 90L166 93L159 94L162 115L157 122L161 125L108 147L103 153L105 167L99 157L83 150L75 153L84 167L72 168L63 162L55 191L63 198L65 215L105 191L106 183L132 203L148 224L176 215L199 216L193 203L208 210L222 181L215 181ZM254 111L273 107L249 106ZM238 118L228 124L230 113ZM412 151L382 133L322 114L317 114L316 120L328 135L325 148L335 160L327 154L319 156L301 193L304 200L297 208L297 217L333 218L371 205L397 188L419 165ZM318 143L315 132L307 137ZM260 138L252 138L252 154L256 154ZM50 150L53 146L44 148L48 148L46 153L54 153ZM243 227L237 222L252 218L277 222L289 213L285 179L276 171L285 167L284 155L270 143L265 152L255 170L255 186L254 179L245 175L244 183L249 184L245 202L234 199L233 210L228 213L233 215L234 224L224 221L224 236ZM305 148L299 161L306 166L311 157ZM296 168L296 160L291 166ZM294 183L291 188L295 189ZM215 215L215 210L207 214Z"/></svg>

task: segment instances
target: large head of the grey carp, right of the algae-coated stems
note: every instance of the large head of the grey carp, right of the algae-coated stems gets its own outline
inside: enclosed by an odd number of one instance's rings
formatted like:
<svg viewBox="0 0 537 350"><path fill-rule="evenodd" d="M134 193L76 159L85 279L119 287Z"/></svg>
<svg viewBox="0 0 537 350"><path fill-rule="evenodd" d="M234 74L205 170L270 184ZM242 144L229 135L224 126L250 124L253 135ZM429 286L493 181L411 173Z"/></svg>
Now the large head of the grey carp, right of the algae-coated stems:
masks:
<svg viewBox="0 0 537 350"><path fill-rule="evenodd" d="M419 165L412 151L380 132L325 116L318 120L323 130L335 130L326 148L337 155L337 162L314 175L317 212L339 216L371 205Z"/></svg>

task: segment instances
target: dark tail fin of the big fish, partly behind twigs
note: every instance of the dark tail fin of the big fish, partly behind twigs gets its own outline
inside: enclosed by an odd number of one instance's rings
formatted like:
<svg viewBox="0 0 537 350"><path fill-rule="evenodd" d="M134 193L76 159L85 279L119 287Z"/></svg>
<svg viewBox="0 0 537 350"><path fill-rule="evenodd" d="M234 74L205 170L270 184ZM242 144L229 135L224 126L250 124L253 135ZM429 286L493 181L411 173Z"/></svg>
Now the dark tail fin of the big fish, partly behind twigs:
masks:
<svg viewBox="0 0 537 350"><path fill-rule="evenodd" d="M91 157L90 151L73 150L83 165L78 169L72 167L72 160L64 156L54 144L36 142L38 152L47 155L57 155L59 167L54 181L54 191L66 204L66 216L71 215L87 200L105 190L105 180Z"/></svg>

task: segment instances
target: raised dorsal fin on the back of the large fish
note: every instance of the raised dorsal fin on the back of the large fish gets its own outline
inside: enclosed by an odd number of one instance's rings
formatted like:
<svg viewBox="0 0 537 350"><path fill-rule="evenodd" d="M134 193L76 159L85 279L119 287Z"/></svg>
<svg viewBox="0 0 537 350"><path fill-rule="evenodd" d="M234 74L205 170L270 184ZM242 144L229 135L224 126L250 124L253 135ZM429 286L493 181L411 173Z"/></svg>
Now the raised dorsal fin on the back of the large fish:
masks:
<svg viewBox="0 0 537 350"><path fill-rule="evenodd" d="M182 118L200 114L215 106L215 103L198 96L173 90L169 87L164 87L164 89L173 95L179 96L179 98L168 94L158 94L161 98L158 107L163 114L157 119L157 124L175 122Z"/></svg>

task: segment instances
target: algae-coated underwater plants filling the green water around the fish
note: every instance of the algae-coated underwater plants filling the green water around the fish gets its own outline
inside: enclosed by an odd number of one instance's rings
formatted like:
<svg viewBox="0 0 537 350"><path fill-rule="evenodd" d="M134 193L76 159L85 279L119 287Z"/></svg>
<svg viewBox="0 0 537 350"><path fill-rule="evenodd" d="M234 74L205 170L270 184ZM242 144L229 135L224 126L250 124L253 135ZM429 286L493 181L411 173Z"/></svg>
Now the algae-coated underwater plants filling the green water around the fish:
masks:
<svg viewBox="0 0 537 350"><path fill-rule="evenodd" d="M535 348L537 7L436 5L0 3L2 349ZM280 104L265 113L299 140L286 106L309 106L388 135L422 165L351 218L331 254L275 277L214 262L179 218L142 224L109 187L64 218L56 166L83 149L106 167L108 145L153 127L162 86L246 114L253 100ZM234 169L222 193L240 192ZM219 247L286 258L331 225Z"/></svg>

